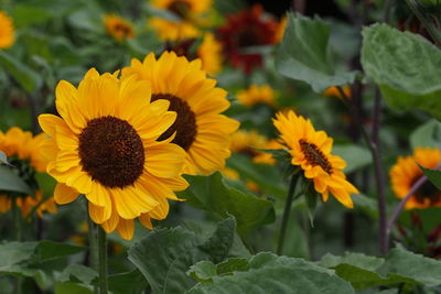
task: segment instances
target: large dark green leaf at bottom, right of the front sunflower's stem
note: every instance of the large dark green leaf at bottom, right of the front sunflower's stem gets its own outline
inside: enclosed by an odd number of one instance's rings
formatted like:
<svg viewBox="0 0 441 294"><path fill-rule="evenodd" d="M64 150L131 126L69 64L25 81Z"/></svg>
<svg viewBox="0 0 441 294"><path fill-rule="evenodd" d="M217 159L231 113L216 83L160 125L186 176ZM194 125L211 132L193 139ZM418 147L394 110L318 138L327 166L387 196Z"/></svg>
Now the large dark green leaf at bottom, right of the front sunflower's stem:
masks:
<svg viewBox="0 0 441 294"><path fill-rule="evenodd" d="M206 240L183 228L152 231L135 243L129 260L146 276L154 293L183 293L195 284L185 274L202 260L220 262L233 244L234 218L219 222Z"/></svg>

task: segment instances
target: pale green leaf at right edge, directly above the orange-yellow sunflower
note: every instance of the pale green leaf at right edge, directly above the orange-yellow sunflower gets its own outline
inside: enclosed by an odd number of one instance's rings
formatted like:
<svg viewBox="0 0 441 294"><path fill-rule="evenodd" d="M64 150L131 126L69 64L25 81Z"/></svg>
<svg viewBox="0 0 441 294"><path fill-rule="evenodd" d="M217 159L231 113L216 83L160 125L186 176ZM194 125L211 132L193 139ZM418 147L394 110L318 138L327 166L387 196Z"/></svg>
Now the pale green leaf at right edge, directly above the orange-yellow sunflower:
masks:
<svg viewBox="0 0 441 294"><path fill-rule="evenodd" d="M432 119L418 127L410 134L410 145L416 148L440 148L441 143L441 123Z"/></svg>

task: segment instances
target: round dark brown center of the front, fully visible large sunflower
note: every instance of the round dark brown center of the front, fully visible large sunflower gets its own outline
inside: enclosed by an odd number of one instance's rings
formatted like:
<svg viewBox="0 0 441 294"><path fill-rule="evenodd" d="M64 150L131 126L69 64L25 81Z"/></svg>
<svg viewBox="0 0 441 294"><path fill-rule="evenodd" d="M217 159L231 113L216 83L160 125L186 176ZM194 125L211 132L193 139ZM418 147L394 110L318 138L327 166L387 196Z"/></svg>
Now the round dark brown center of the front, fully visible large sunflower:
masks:
<svg viewBox="0 0 441 294"><path fill-rule="evenodd" d="M104 186L131 185L142 174L144 149L130 123L115 117L90 120L79 135L83 171Z"/></svg>

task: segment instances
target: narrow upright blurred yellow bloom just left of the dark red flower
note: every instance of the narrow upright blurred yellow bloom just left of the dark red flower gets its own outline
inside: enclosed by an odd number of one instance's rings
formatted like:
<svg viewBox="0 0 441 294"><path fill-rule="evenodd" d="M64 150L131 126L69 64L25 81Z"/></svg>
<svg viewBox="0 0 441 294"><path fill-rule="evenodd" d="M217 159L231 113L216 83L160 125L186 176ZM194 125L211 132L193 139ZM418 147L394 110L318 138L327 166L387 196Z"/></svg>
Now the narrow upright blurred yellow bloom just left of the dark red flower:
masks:
<svg viewBox="0 0 441 294"><path fill-rule="evenodd" d="M222 44L216 41L213 33L205 33L201 46L197 48L197 57L201 58L202 69L208 75L215 76L222 69Z"/></svg>

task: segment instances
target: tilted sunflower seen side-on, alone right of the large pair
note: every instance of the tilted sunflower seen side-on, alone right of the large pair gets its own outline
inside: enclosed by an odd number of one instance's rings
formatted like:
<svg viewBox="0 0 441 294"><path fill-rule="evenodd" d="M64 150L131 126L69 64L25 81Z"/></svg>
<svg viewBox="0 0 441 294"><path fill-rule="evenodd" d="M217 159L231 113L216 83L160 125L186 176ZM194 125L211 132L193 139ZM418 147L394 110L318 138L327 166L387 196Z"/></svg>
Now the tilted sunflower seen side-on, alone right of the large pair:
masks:
<svg viewBox="0 0 441 294"><path fill-rule="evenodd" d="M331 154L332 138L324 131L315 131L310 120L293 111L277 113L273 123L289 149L291 164L301 167L315 190L322 194L322 200L326 202L331 193L344 206L353 208L349 194L358 190L346 181L343 173L346 162Z"/></svg>

